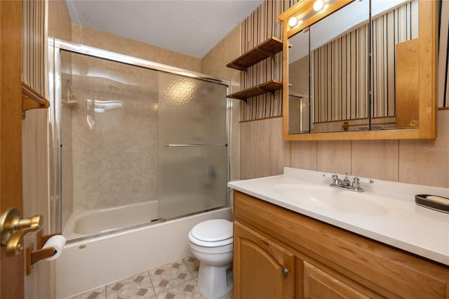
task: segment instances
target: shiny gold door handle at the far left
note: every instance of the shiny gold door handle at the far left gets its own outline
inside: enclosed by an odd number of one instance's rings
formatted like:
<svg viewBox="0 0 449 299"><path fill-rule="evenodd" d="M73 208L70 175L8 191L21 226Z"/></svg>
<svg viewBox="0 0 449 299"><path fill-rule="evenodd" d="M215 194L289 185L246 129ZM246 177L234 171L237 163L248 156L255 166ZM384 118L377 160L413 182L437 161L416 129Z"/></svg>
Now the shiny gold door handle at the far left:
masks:
<svg viewBox="0 0 449 299"><path fill-rule="evenodd" d="M7 208L0 216L1 246L6 246L6 255L13 256L22 252L23 236L39 230L42 224L42 215L22 218L17 208Z"/></svg>

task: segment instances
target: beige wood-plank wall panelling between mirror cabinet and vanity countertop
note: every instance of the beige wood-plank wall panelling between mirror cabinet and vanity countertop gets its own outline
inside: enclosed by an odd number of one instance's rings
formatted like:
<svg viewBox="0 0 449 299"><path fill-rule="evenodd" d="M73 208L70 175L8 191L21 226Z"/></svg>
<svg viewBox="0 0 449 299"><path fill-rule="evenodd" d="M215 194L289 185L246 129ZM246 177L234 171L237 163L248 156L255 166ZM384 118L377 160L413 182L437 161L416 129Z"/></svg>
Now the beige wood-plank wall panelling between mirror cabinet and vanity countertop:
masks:
<svg viewBox="0 0 449 299"><path fill-rule="evenodd" d="M441 28L447 36L448 25L442 23ZM242 33L241 42L248 43L247 39L254 39L259 29L254 27L252 34ZM447 72L447 61L443 63L443 69ZM269 73L271 71L267 69L267 76ZM281 118L248 117L248 111L255 111L255 105L260 106L260 98L248 101L248 104L242 103L241 119L260 120L240 124L240 177L248 179L276 175L282 173L282 166L291 166L449 187L449 110L444 109L443 94L438 93L437 101L441 109L437 113L438 137L435 140L283 141Z"/></svg>

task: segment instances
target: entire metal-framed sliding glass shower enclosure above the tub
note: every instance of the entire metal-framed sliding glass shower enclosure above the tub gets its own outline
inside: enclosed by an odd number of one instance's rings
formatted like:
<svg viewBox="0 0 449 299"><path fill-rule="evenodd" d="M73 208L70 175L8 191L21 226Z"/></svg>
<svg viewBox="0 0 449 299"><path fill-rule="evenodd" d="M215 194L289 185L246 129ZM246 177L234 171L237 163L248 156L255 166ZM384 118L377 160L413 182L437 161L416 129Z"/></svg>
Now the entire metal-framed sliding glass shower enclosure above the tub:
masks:
<svg viewBox="0 0 449 299"><path fill-rule="evenodd" d="M225 82L54 42L54 231L73 241L227 206Z"/></svg>

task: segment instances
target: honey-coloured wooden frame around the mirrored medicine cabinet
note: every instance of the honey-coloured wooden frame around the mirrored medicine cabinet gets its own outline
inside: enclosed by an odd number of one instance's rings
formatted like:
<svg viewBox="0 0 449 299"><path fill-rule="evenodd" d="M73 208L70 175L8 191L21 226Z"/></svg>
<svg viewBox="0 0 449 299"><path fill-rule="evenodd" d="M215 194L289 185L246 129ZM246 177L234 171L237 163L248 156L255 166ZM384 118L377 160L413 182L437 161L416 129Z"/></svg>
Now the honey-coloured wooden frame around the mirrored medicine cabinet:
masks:
<svg viewBox="0 0 449 299"><path fill-rule="evenodd" d="M323 13L312 16L297 27L290 27L288 20L313 10L314 0L301 0L279 15L283 21L283 139L284 140L396 140L436 138L436 72L438 58L438 1L419 1L419 128L391 129L379 131L350 131L330 133L288 133L288 95L289 95L289 55L288 38L309 25L318 22L333 11L352 0L335 1Z"/></svg>

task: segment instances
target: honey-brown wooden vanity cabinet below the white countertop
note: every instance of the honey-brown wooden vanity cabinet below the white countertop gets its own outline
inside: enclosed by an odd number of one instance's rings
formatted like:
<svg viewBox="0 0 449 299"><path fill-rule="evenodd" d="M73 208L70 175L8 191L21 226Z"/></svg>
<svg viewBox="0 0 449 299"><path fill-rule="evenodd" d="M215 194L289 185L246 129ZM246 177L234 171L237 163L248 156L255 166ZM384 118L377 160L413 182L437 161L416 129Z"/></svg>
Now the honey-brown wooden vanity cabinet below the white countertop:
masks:
<svg viewBox="0 0 449 299"><path fill-rule="evenodd" d="M234 190L234 298L449 298L449 267Z"/></svg>

